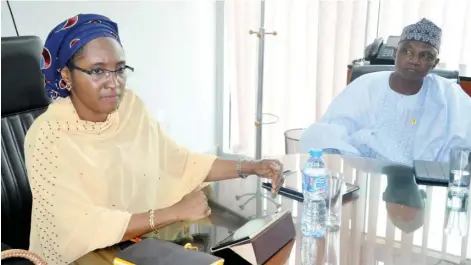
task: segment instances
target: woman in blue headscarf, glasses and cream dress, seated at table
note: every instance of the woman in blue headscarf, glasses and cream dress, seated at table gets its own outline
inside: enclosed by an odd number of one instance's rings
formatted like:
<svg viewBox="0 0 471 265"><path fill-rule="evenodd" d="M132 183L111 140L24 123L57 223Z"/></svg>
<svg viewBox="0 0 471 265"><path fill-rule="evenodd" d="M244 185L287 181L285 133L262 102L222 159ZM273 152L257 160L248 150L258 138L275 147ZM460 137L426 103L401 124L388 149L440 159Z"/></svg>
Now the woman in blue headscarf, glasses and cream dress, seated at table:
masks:
<svg viewBox="0 0 471 265"><path fill-rule="evenodd" d="M166 136L125 89L132 68L107 17L60 23L47 37L41 68L55 101L29 129L25 156L30 250L50 264L208 216L203 182L255 174L271 179L276 192L283 181L278 161L222 160Z"/></svg>

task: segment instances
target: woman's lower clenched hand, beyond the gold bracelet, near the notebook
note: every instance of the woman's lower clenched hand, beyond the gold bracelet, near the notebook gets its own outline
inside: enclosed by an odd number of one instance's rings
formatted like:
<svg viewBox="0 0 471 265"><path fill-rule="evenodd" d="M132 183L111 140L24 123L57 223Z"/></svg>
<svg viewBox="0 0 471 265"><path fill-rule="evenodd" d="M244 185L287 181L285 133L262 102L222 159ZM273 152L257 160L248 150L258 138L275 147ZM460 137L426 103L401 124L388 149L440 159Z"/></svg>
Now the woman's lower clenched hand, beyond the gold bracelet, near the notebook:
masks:
<svg viewBox="0 0 471 265"><path fill-rule="evenodd" d="M208 206L208 199L201 188L188 193L183 198L171 206L175 211L178 221L196 221L211 214Z"/></svg>

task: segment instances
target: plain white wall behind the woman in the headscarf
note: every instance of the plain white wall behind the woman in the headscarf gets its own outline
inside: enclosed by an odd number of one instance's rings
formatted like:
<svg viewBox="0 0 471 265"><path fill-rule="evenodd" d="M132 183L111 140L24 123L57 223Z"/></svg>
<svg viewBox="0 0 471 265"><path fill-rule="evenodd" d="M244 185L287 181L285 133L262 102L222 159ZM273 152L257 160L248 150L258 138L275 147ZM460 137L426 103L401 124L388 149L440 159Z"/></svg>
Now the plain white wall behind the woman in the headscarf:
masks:
<svg viewBox="0 0 471 265"><path fill-rule="evenodd" d="M100 13L116 21L136 91L180 144L193 151L216 146L216 2L10 1L20 35L45 40L77 13ZM221 9L218 9L221 10ZM2 37L15 30L2 1Z"/></svg>

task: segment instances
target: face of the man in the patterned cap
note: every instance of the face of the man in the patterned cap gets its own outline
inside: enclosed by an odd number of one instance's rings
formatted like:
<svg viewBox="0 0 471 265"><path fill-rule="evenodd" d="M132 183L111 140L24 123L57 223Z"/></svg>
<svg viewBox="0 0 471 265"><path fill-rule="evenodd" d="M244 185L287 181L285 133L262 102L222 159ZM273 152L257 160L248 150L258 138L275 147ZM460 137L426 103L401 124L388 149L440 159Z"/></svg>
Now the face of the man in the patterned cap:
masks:
<svg viewBox="0 0 471 265"><path fill-rule="evenodd" d="M403 41L396 51L396 72L404 79L423 79L438 62L438 51L432 45L421 41Z"/></svg>

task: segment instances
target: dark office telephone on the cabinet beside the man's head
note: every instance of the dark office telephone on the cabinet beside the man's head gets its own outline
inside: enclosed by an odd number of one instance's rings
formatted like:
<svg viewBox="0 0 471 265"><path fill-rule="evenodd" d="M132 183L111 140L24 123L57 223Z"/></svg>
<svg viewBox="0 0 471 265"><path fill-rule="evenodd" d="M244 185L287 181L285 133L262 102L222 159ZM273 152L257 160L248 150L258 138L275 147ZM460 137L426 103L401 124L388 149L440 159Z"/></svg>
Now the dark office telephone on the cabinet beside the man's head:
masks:
<svg viewBox="0 0 471 265"><path fill-rule="evenodd" d="M383 38L377 38L365 48L365 60L370 64L394 64L394 53L399 44L399 36L389 36L386 43Z"/></svg>

